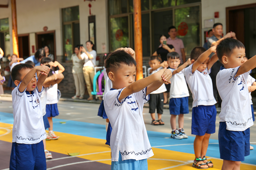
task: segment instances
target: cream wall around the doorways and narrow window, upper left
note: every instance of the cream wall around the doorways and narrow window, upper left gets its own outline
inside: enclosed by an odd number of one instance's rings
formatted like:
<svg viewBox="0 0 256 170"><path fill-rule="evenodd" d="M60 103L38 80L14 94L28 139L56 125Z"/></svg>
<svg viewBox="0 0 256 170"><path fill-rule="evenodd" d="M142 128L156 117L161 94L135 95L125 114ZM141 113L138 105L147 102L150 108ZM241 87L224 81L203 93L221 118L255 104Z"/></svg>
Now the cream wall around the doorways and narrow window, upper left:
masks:
<svg viewBox="0 0 256 170"><path fill-rule="evenodd" d="M61 8L79 5L80 43L85 44L89 40L89 2L84 2L83 0L16 0L18 34L30 33L31 35L36 32L42 32L43 27L47 26L48 31L55 30L56 55L63 55ZM101 48L102 43L108 44L106 29L108 20L105 17L106 0L92 1L91 5L91 13L95 15L96 19L97 53L104 53ZM9 18L11 33L12 20L10 4L8 8L0 8L0 18ZM32 45L35 45L35 40L31 40L31 38L34 38L34 36L30 37L30 49L32 49Z"/></svg>

